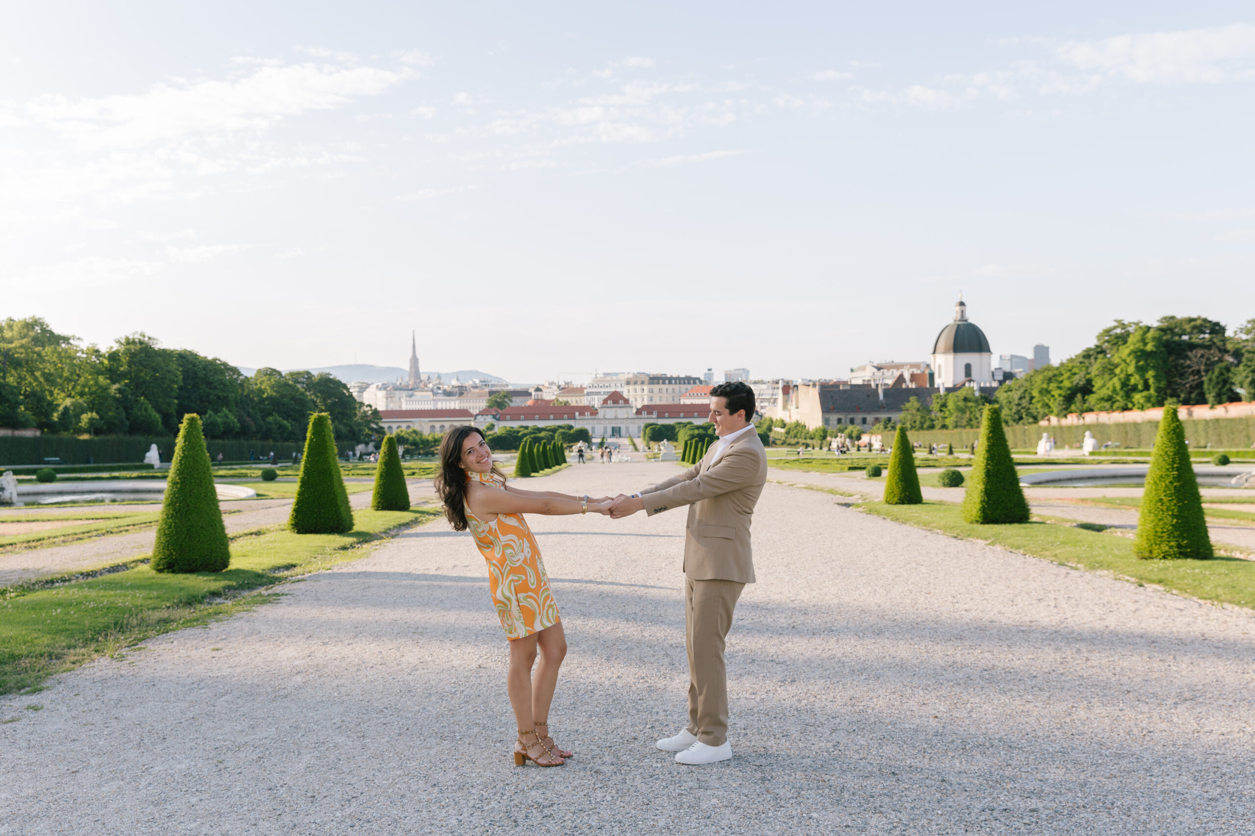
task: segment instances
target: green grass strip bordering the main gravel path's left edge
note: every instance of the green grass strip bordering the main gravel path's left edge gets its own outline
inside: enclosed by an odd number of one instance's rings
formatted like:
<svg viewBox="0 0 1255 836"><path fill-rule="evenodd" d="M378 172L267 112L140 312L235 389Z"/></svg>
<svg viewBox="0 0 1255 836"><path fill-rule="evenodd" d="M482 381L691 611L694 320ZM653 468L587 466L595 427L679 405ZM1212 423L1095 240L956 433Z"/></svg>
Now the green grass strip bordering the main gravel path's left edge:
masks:
<svg viewBox="0 0 1255 836"><path fill-rule="evenodd" d="M0 602L0 694L38 688L50 676L152 635L254 607L265 589L365 555L358 546L437 516L432 509L354 511L348 534L264 530L231 544L221 573L157 574L138 565ZM246 595L248 600L241 600Z"/></svg>

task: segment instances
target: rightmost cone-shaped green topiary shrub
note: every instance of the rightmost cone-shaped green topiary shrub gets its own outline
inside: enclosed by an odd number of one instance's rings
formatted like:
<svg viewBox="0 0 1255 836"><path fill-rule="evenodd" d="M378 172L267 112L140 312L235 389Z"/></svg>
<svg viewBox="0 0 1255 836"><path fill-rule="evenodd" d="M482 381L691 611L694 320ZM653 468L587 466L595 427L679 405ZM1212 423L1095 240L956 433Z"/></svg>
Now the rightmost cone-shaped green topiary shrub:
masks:
<svg viewBox="0 0 1255 836"><path fill-rule="evenodd" d="M1133 554L1156 560L1214 556L1202 515L1202 496L1176 405L1163 407L1160 431L1155 435Z"/></svg>

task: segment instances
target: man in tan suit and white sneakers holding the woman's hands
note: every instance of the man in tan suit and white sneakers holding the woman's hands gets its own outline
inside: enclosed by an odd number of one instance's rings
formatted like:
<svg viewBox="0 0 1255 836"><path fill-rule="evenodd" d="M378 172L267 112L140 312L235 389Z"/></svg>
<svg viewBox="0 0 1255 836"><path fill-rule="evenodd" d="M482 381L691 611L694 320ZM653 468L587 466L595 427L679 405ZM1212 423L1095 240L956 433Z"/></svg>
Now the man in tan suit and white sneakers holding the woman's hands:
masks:
<svg viewBox="0 0 1255 836"><path fill-rule="evenodd" d="M689 724L658 748L678 763L732 757L728 742L728 671L724 639L745 584L754 583L749 523L767 483L767 451L750 419L754 390L735 381L710 390L710 422L719 440L702 461L610 508L620 518L653 516L689 506L684 535L684 638L689 652Z"/></svg>

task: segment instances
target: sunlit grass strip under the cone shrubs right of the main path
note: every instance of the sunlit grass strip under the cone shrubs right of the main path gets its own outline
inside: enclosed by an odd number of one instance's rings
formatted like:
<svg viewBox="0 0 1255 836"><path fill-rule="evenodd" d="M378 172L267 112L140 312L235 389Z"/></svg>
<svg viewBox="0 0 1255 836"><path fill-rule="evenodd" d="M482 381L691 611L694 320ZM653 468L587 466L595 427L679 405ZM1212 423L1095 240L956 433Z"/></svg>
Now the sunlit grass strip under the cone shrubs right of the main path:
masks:
<svg viewBox="0 0 1255 836"><path fill-rule="evenodd" d="M1141 560L1133 556L1133 540L1127 536L1044 521L974 525L963 520L960 506L953 503L863 503L858 508L896 523L978 540L1076 569L1104 572L1138 585L1156 585L1202 600L1255 608L1255 560L1232 556Z"/></svg>

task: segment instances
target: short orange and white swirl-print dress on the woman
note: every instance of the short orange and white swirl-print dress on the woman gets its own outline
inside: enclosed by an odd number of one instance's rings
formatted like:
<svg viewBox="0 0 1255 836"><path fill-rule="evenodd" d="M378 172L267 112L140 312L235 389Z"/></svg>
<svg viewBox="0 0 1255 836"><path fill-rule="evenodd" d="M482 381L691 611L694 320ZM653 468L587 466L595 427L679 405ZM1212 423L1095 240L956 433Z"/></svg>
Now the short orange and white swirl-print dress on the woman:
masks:
<svg viewBox="0 0 1255 836"><path fill-rule="evenodd" d="M468 473L467 481L501 486L489 474ZM467 524L488 563L488 585L507 639L521 639L557 624L557 603L548 588L541 549L522 514L497 514L484 523L467 508Z"/></svg>

